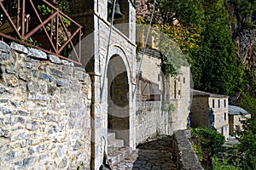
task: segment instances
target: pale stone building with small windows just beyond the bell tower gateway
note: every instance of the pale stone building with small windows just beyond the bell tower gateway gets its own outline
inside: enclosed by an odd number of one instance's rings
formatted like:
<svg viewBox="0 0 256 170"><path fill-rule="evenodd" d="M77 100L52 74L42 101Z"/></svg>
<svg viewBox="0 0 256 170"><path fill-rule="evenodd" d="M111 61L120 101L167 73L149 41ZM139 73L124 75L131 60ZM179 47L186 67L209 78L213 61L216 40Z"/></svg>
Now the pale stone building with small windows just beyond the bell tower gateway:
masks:
<svg viewBox="0 0 256 170"><path fill-rule="evenodd" d="M139 35L137 35L138 37ZM154 47L154 45L149 45ZM138 50L137 70L143 50ZM136 143L157 134L172 135L188 127L190 105L190 71L181 66L177 76L166 77L161 71L162 54L146 48L137 83ZM138 72L138 71L137 71Z"/></svg>

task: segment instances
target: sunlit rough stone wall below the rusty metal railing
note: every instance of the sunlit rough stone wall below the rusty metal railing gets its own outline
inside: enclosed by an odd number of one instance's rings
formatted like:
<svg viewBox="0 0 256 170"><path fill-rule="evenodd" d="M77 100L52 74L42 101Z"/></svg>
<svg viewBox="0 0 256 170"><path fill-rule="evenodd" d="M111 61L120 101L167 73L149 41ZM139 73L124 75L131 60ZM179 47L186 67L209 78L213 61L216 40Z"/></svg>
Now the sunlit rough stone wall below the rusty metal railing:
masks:
<svg viewBox="0 0 256 170"><path fill-rule="evenodd" d="M90 169L90 77L0 42L0 169Z"/></svg>

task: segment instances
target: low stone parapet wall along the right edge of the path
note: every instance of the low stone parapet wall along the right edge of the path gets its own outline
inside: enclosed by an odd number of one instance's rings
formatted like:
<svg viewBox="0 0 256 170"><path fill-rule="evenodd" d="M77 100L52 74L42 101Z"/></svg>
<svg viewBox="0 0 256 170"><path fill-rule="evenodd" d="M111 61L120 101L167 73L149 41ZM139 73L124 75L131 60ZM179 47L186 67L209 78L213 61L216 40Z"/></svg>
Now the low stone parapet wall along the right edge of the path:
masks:
<svg viewBox="0 0 256 170"><path fill-rule="evenodd" d="M176 156L177 169L203 169L189 138L189 130L178 130L173 135L172 148Z"/></svg>

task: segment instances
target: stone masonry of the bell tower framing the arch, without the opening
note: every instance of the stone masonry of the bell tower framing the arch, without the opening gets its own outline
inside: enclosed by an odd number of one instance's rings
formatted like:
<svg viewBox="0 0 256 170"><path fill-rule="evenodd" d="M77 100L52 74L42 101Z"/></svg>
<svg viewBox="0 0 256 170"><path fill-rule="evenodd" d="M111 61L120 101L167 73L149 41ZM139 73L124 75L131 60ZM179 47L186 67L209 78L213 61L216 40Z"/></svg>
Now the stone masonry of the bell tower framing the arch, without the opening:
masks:
<svg viewBox="0 0 256 170"><path fill-rule="evenodd" d="M107 0L73 0L73 19L83 26L84 38L82 40L82 64L87 72L90 73L92 81L92 107L91 107L91 169L99 169L102 164L102 153L104 141L108 133L108 81L104 80L105 67L108 60L122 53L120 57L125 62L127 69L128 82L131 83L135 77L136 68L136 45L135 45L135 8L130 2L124 1L127 7L126 17L128 34L118 27L113 26L111 44L109 50L112 53L107 56L108 35L110 22L108 20ZM120 4L120 3L119 3ZM132 14L131 14L132 13ZM126 14L126 13L125 13ZM114 48L114 49L113 49ZM119 50L116 50L119 49ZM106 63L107 60L107 63ZM118 66L118 65L116 65ZM105 82L104 82L105 81ZM103 86L104 82L104 87ZM131 92L134 85L129 84L129 146L135 148L135 100L132 101ZM104 90L102 90L104 89ZM101 93L102 101L100 99ZM108 142L107 142L108 144Z"/></svg>

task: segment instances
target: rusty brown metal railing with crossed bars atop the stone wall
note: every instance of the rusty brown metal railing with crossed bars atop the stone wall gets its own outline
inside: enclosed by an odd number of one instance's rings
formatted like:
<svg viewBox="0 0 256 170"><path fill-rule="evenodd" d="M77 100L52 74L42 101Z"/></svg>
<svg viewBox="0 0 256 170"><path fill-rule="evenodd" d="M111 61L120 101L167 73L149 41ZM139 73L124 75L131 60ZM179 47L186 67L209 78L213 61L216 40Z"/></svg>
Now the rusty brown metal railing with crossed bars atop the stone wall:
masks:
<svg viewBox="0 0 256 170"><path fill-rule="evenodd" d="M46 0L0 0L0 38L81 65L82 26Z"/></svg>

